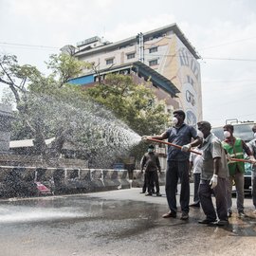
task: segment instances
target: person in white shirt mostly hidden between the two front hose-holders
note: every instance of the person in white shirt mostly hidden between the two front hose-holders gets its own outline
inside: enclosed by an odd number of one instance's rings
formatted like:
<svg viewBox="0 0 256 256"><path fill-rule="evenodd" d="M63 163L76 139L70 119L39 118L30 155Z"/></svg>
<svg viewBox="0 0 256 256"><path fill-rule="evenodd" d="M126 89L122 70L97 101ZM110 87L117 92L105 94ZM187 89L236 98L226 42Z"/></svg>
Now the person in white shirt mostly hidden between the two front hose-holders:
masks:
<svg viewBox="0 0 256 256"><path fill-rule="evenodd" d="M190 155L190 173L193 174L193 203L190 205L190 207L200 207L200 198L198 191L201 170L203 166L201 146L194 148L193 151L199 154L191 153Z"/></svg>

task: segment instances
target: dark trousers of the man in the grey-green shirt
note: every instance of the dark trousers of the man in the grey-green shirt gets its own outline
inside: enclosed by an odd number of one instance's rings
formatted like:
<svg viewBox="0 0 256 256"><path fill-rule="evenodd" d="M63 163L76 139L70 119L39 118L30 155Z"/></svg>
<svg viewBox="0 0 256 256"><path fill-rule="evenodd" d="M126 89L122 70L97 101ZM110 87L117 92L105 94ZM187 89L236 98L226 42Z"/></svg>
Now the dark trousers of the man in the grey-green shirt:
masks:
<svg viewBox="0 0 256 256"><path fill-rule="evenodd" d="M228 181L226 178L218 177L218 184L212 190L210 188L210 180L201 180L199 186L199 198L207 219L216 220L218 217L220 220L228 220L227 185ZM217 215L212 204L212 193L215 195L216 199Z"/></svg>

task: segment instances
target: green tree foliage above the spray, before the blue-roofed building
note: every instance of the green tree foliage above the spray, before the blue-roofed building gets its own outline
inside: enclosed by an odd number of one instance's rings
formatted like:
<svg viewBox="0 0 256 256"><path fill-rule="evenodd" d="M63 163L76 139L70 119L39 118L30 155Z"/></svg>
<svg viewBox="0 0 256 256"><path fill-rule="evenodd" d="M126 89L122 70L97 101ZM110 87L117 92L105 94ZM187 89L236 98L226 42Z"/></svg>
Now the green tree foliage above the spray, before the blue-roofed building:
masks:
<svg viewBox="0 0 256 256"><path fill-rule="evenodd" d="M103 83L88 88L86 93L140 136L162 132L169 119L164 102L157 101L152 89L136 84L130 76L107 75Z"/></svg>

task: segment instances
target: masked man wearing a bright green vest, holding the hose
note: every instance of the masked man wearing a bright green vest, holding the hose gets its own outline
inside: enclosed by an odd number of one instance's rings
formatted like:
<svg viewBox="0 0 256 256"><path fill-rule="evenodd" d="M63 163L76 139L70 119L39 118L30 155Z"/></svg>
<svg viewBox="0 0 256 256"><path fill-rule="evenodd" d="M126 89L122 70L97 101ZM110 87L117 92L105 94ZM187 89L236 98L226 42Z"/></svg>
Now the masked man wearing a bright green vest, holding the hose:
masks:
<svg viewBox="0 0 256 256"><path fill-rule="evenodd" d="M231 158L244 159L244 152L247 153L248 156L254 157L247 146L247 143L239 138L234 137L234 127L231 124L226 124L223 127L225 140L222 141L222 146L229 154ZM239 217L245 217L244 211L244 184L245 184L245 163L238 161L229 161L229 186L228 186L228 216L232 215L232 186L233 182L235 182L236 188L236 206L238 210Z"/></svg>

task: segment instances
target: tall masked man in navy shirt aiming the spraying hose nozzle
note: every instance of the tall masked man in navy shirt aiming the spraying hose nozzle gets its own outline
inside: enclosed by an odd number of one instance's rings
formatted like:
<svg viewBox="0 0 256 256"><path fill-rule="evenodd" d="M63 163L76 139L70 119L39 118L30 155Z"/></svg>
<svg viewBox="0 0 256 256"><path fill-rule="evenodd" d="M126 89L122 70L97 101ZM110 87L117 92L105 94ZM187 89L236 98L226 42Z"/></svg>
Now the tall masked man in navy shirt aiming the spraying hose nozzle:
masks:
<svg viewBox="0 0 256 256"><path fill-rule="evenodd" d="M186 115L183 110L174 111L174 127L169 128L160 136L142 137L144 139L159 139L168 138L168 141L176 145L182 146L178 149L173 146L168 146L167 170L165 192L170 211L163 215L163 218L176 218L176 189L178 179L180 179L180 207L181 220L189 218L190 211L190 177L189 177L189 150L201 143L201 138L197 136L196 130L184 122ZM194 139L192 142L192 138Z"/></svg>

